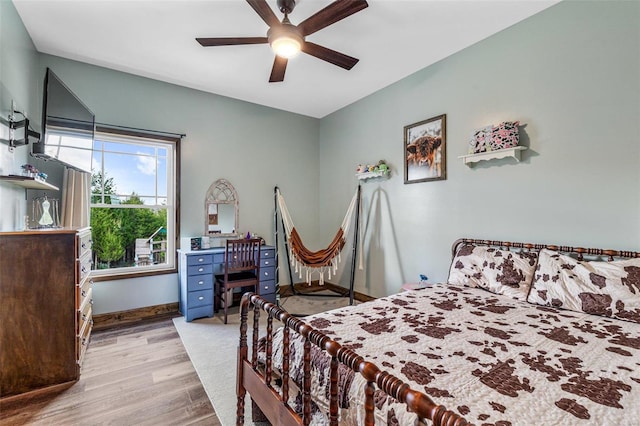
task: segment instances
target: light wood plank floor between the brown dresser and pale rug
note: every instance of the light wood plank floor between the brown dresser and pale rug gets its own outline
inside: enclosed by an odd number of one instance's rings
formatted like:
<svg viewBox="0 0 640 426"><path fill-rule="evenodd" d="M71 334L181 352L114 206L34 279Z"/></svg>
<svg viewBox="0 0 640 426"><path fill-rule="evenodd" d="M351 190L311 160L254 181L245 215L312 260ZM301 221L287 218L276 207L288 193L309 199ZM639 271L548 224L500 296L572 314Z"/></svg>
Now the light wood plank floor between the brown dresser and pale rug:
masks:
<svg viewBox="0 0 640 426"><path fill-rule="evenodd" d="M221 423L173 322L163 319L94 332L77 383L56 392L0 401L0 424Z"/></svg>

